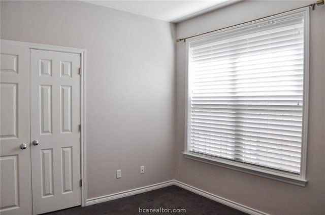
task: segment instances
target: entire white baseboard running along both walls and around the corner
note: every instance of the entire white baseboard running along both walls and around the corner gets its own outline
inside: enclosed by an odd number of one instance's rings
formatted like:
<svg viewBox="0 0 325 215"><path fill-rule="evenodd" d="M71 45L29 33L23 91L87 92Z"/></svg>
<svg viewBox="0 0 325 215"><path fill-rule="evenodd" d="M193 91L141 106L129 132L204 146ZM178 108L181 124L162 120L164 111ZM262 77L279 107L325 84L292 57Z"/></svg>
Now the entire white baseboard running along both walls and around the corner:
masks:
<svg viewBox="0 0 325 215"><path fill-rule="evenodd" d="M206 197L208 199L211 199L211 200L219 202L221 204L230 206L232 208L238 209L240 211L243 211L243 212L251 214L251 215L270 215L268 213L265 213L265 212L262 212L262 211L247 207L245 205L239 204L239 203L231 201L229 199L222 198L220 196L214 195L212 193L206 192L204 190L201 190L199 188L187 185L185 183L182 183L182 182L179 182L179 181L176 181L176 180L161 182L161 183L158 183L158 184L153 184L153 185L140 187L140 188L136 188L136 189L132 189L132 190L126 190L126 191L123 191L123 192L113 193L113 194L106 195L106 196L99 196L99 197L96 197L96 198L87 199L86 206L91 205L91 204L106 202L106 201L110 201L110 200L114 200L114 199L119 199L119 198L123 198L123 197L127 197L127 196L132 196L132 195L136 195L136 194L139 194L139 193L144 193L144 192L148 192L148 191L151 191L151 190L156 190L156 189L160 189L160 188L164 188L164 187L168 187L168 186L172 186L172 185L176 185L176 186L178 186L180 188L183 188L183 189L188 190L190 192L196 193L196 194L198 194L200 196Z"/></svg>

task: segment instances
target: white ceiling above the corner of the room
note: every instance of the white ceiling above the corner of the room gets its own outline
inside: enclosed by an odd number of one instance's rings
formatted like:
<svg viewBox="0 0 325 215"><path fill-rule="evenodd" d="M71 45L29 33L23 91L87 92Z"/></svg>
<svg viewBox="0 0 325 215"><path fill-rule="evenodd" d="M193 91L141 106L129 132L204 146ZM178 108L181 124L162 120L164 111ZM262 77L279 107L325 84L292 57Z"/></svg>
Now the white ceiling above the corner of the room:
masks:
<svg viewBox="0 0 325 215"><path fill-rule="evenodd" d="M198 16L203 13L233 4L238 1L229 0L175 0L175 1L84 1L87 3L101 5L120 11L125 11L141 16L151 17L154 19L168 22L180 22L185 19Z"/></svg>

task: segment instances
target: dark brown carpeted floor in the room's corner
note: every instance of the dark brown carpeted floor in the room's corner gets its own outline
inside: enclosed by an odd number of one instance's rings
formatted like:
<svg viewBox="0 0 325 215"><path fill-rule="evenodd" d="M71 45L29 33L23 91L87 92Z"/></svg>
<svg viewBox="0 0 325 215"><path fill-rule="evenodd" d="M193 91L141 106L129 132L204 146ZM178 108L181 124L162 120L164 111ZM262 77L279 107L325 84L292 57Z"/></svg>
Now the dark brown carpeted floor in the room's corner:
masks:
<svg viewBox="0 0 325 215"><path fill-rule="evenodd" d="M128 196L86 207L73 207L58 210L46 215L139 215L140 209L185 209L186 212L151 212L147 214L186 214L186 215L247 215L177 186ZM163 210L160 210L163 211Z"/></svg>

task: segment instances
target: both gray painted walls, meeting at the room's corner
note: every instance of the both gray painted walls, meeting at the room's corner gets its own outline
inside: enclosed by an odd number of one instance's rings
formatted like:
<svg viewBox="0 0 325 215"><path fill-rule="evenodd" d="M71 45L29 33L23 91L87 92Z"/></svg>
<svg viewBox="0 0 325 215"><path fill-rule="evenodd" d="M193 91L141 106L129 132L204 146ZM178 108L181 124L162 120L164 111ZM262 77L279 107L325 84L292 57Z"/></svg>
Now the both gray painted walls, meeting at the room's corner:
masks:
<svg viewBox="0 0 325 215"><path fill-rule="evenodd" d="M311 13L305 188L182 156L184 42L174 56L176 37L309 3L240 2L177 24L176 36L167 22L83 2L1 1L1 38L87 49L88 199L175 178L270 214L317 215L325 214L325 7ZM122 169L121 179L116 169Z"/></svg>

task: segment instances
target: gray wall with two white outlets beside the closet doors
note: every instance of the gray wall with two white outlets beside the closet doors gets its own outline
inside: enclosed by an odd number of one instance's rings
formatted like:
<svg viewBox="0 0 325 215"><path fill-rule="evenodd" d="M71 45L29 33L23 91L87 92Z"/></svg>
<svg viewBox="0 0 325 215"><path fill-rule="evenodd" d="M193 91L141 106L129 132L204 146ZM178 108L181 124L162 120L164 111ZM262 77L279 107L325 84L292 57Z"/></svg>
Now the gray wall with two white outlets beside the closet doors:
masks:
<svg viewBox="0 0 325 215"><path fill-rule="evenodd" d="M88 199L174 178L173 27L80 1L1 1L2 39L87 49Z"/></svg>

